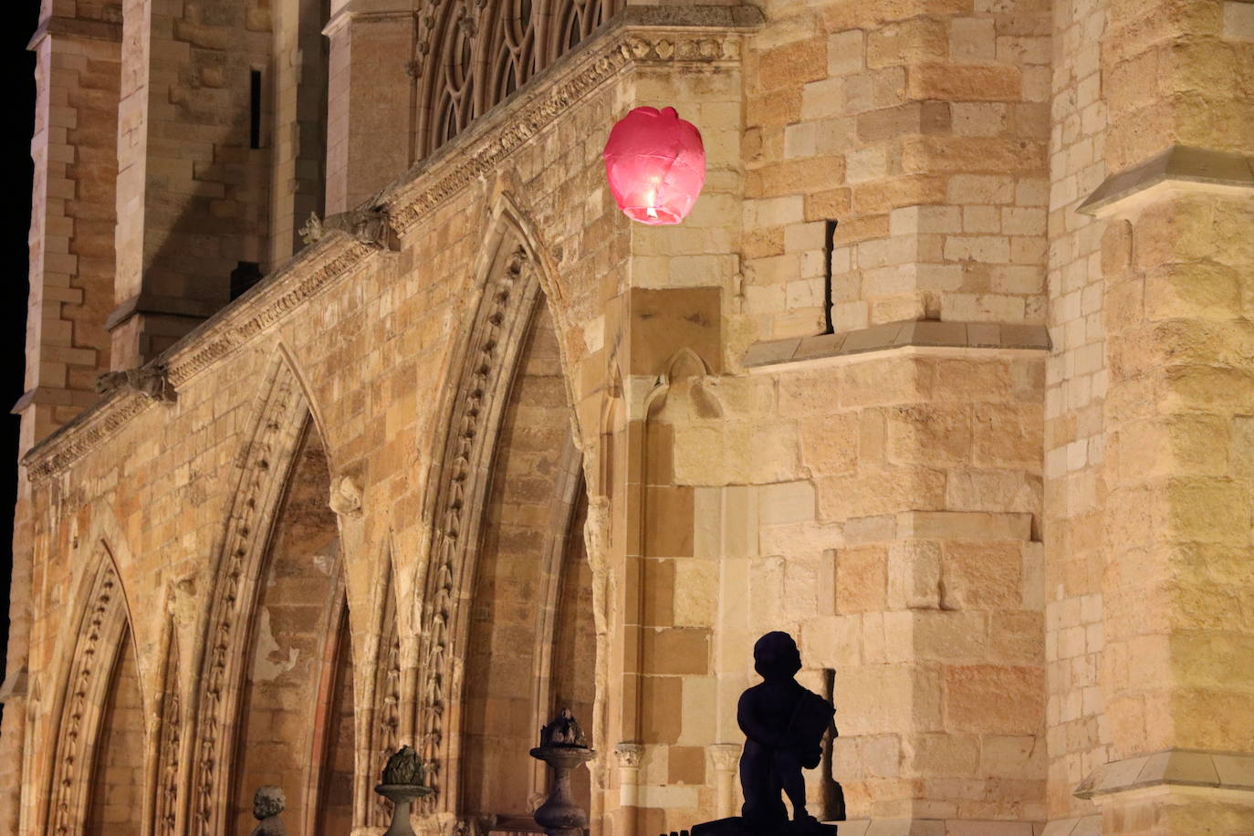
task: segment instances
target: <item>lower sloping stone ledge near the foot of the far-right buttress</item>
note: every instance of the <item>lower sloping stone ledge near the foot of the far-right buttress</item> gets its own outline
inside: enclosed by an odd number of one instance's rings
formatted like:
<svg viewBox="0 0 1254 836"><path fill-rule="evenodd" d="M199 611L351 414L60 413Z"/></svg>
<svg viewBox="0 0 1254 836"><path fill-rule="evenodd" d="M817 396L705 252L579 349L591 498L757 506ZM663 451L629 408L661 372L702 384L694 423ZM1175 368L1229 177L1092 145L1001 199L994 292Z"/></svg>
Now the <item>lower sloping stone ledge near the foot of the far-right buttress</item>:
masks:
<svg viewBox="0 0 1254 836"><path fill-rule="evenodd" d="M1254 792L1254 755L1166 750L1102 765L1076 787L1077 798L1100 798L1147 787L1210 787Z"/></svg>

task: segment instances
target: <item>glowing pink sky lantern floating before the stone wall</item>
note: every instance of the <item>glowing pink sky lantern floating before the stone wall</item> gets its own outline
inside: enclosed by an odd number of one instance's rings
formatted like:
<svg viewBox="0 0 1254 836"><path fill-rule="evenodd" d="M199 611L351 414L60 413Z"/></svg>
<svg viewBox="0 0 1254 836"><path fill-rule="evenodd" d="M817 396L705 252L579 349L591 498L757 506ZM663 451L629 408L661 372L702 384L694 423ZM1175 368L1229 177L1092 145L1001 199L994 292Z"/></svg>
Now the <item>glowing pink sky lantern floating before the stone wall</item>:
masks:
<svg viewBox="0 0 1254 836"><path fill-rule="evenodd" d="M606 177L614 202L632 221L678 223L705 185L701 132L675 108L636 108L606 143Z"/></svg>

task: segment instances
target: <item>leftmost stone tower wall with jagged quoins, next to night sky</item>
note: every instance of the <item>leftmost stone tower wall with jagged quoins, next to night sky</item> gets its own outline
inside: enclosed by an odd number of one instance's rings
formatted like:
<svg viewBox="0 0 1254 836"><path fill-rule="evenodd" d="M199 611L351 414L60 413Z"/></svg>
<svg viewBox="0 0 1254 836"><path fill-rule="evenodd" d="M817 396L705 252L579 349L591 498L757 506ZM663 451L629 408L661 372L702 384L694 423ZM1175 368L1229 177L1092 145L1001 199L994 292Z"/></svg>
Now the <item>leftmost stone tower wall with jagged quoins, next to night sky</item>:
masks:
<svg viewBox="0 0 1254 836"><path fill-rule="evenodd" d="M109 368L120 8L46 9L31 40L38 91L25 394L29 449L95 400ZM68 16L66 14L68 13Z"/></svg>

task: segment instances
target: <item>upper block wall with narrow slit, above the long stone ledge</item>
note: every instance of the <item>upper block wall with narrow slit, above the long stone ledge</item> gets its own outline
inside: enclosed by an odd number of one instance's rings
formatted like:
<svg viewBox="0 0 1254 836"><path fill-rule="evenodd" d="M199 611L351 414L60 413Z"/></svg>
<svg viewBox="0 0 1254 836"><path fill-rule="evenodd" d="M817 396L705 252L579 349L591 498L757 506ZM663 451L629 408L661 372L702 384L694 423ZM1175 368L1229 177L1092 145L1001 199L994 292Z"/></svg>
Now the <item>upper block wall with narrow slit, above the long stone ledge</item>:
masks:
<svg viewBox="0 0 1254 836"><path fill-rule="evenodd" d="M761 336L1043 322L1048 4L766 10L744 140Z"/></svg>

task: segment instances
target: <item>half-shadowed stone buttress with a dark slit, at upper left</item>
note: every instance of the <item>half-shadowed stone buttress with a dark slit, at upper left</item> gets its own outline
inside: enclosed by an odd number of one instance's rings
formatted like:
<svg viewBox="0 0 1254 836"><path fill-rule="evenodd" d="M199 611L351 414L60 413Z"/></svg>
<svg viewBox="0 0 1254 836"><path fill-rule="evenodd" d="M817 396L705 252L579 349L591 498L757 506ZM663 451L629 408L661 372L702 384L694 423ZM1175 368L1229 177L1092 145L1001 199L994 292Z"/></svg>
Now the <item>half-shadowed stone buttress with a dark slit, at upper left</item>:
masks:
<svg viewBox="0 0 1254 836"><path fill-rule="evenodd" d="M275 59L268 4L128 0L123 11L108 326L114 367L130 368L226 305L241 263L266 269Z"/></svg>

